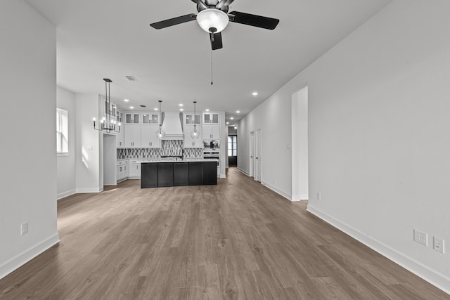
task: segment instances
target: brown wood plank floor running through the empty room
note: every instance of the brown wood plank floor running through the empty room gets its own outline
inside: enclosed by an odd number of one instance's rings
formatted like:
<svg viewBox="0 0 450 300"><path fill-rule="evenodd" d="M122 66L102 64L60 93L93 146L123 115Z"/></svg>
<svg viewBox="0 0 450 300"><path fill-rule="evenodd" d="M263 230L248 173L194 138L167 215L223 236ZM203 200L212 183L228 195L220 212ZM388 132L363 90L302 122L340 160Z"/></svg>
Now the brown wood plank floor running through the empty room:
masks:
<svg viewBox="0 0 450 300"><path fill-rule="evenodd" d="M218 185L124 181L58 202L61 242L0 299L450 299L236 168Z"/></svg>

